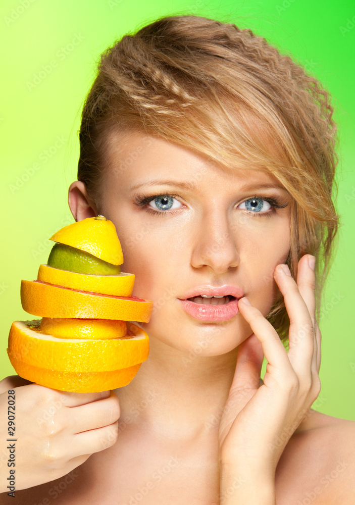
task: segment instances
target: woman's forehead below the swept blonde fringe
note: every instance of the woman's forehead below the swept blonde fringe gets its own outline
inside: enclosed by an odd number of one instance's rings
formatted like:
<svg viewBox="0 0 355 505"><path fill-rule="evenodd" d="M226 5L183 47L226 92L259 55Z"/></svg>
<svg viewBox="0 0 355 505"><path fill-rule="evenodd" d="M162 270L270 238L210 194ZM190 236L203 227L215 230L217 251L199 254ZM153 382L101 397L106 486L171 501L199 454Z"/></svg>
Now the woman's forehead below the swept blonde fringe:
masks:
<svg viewBox="0 0 355 505"><path fill-rule="evenodd" d="M206 176L216 176L231 183L255 180L281 186L266 169L245 169L242 164L231 168L188 146L137 130L111 133L106 147L110 175L119 178L121 184L159 178L202 183Z"/></svg>

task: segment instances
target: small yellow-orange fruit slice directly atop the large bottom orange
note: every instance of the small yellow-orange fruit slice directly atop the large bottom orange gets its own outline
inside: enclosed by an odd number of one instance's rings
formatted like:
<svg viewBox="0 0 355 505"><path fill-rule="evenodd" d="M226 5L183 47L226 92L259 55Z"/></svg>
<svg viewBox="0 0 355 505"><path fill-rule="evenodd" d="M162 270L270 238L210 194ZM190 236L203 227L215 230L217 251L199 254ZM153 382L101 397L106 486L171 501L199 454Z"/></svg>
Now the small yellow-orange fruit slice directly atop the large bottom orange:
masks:
<svg viewBox="0 0 355 505"><path fill-rule="evenodd" d="M120 338L126 335L126 321L43 317L40 333L59 338Z"/></svg>

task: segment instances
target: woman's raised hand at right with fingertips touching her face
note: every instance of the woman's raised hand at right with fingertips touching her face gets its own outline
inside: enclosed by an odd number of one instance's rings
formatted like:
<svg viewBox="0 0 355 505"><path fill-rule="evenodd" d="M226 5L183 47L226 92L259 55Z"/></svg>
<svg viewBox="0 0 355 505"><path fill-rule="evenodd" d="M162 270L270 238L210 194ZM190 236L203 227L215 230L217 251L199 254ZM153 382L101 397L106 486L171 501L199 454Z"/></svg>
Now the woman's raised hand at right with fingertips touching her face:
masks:
<svg viewBox="0 0 355 505"><path fill-rule="evenodd" d="M246 305L243 299L238 303L253 334L239 345L236 370L219 425L221 493L239 475L236 492L241 498L244 492L241 476L245 476L244 481L250 476L250 482L244 482L250 505L259 503L259 492L263 496L261 488L257 490L258 483L269 487L264 505L274 503L271 483L277 463L321 389L321 332L315 319L315 272L309 259L314 261L311 255L299 260L297 283L284 273L281 265L274 272L290 319L288 352L276 330L256 307ZM264 355L268 364L264 384L260 385ZM258 480L252 487L253 476ZM250 489L256 489L256 501ZM231 499L234 502L237 495Z"/></svg>

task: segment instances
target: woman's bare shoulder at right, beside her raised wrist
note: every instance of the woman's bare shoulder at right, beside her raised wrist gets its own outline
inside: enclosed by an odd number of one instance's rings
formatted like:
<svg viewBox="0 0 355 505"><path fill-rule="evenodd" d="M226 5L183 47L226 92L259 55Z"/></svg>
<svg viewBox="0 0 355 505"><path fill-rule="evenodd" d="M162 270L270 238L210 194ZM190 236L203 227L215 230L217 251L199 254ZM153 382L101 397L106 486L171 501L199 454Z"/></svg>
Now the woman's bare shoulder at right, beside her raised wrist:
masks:
<svg viewBox="0 0 355 505"><path fill-rule="evenodd" d="M302 504L353 505L354 455L355 421L310 409L279 461L280 503L297 496Z"/></svg>

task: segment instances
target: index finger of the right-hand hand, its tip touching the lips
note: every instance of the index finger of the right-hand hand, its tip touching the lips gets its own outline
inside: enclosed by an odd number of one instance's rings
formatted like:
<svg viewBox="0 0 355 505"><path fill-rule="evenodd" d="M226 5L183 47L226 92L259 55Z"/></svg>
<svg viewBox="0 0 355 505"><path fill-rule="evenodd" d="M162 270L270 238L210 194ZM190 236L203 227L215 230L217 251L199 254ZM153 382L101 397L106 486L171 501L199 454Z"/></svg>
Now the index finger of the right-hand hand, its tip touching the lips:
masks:
<svg viewBox="0 0 355 505"><path fill-rule="evenodd" d="M244 298L238 301L238 309L251 330L261 342L264 356L271 367L290 371L290 362L277 331L253 305L247 305Z"/></svg>

